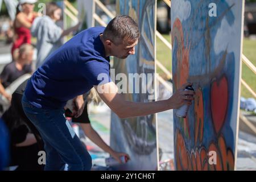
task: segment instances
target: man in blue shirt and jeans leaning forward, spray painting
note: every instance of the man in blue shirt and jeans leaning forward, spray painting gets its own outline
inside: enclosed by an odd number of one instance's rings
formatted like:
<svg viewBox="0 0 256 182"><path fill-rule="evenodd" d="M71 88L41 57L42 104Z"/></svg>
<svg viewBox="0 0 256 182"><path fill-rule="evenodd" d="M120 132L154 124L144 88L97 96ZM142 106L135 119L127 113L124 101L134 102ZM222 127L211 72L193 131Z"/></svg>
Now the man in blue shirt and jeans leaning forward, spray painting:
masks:
<svg viewBox="0 0 256 182"><path fill-rule="evenodd" d="M191 104L193 92L178 90L170 99L130 102L118 94L110 79L109 56L125 59L135 53L139 28L130 16L117 16L108 26L80 32L47 57L32 75L23 95L24 112L39 130L47 152L46 170L90 170L92 159L63 116L72 98L76 117L84 109L82 94L93 86L102 100L120 118L148 115ZM99 75L105 75L98 79ZM100 92L99 92L100 90ZM109 92L112 90L112 92ZM191 94L192 96L185 96Z"/></svg>

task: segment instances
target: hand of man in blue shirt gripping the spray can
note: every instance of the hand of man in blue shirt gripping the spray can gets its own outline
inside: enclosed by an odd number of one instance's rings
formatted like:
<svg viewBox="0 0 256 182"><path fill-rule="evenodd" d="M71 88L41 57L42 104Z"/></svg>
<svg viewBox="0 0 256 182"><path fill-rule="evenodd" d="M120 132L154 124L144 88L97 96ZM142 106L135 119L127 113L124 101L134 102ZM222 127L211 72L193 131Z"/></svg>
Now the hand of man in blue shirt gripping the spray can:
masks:
<svg viewBox="0 0 256 182"><path fill-rule="evenodd" d="M195 92L192 90L186 90L184 89L187 86L191 86L192 84L187 83L181 86L181 88L177 89L177 91L172 95L171 98L168 99L170 101L170 104L174 107L174 109L179 108L180 106L187 104L191 105L192 100L194 100Z"/></svg>

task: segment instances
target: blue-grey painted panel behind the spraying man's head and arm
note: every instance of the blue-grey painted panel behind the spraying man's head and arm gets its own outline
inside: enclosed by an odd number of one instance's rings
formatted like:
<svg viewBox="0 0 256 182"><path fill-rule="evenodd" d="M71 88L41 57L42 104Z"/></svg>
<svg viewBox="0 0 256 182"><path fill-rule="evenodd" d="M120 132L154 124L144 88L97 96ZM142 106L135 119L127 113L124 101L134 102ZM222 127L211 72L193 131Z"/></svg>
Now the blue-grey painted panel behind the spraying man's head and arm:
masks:
<svg viewBox="0 0 256 182"><path fill-rule="evenodd" d="M139 26L141 38L135 47L135 55L125 60L114 59L115 75L123 73L129 78L126 85L129 92L122 93L128 101L154 101L155 73L155 0L120 0L117 1L117 14L130 15ZM146 73L146 77L137 85L130 75ZM134 76L135 76L134 75ZM120 78L115 83L119 86ZM146 84L146 86L143 86ZM147 88L146 88L147 87ZM138 89L139 88L139 92ZM150 92L143 92L150 90ZM149 99L150 98L150 99ZM155 170L158 166L156 148L156 117L155 114L144 117L119 119L112 113L110 145L117 151L127 152L131 160L118 169Z"/></svg>

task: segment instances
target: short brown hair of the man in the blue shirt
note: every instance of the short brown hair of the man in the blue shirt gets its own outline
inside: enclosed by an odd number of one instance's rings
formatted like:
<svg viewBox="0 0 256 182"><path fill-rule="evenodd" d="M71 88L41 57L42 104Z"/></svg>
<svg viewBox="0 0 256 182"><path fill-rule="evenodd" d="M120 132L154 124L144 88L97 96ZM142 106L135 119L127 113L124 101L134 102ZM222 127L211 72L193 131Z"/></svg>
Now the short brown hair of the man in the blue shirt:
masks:
<svg viewBox="0 0 256 182"><path fill-rule="evenodd" d="M116 45L123 41L134 43L139 36L138 24L128 15L113 18L103 32L104 40L110 40Z"/></svg>

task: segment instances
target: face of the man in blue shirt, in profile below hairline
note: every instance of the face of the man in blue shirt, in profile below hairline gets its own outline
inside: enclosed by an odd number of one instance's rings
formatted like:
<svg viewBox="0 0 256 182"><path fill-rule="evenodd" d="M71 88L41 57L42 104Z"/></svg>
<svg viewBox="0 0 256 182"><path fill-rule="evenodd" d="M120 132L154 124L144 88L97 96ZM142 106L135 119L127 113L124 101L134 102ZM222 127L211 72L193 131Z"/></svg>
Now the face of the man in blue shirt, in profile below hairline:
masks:
<svg viewBox="0 0 256 182"><path fill-rule="evenodd" d="M138 40L135 42L123 43L115 45L112 43L111 47L111 55L118 57L119 59L126 59L129 55L135 54L135 46L138 44Z"/></svg>

